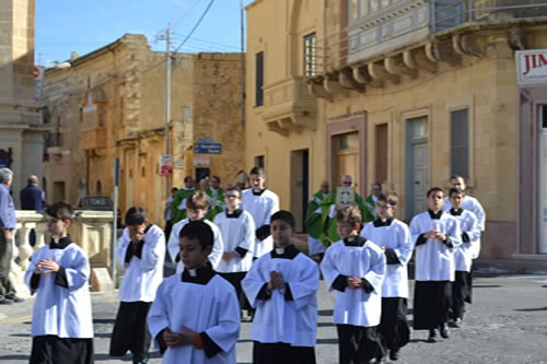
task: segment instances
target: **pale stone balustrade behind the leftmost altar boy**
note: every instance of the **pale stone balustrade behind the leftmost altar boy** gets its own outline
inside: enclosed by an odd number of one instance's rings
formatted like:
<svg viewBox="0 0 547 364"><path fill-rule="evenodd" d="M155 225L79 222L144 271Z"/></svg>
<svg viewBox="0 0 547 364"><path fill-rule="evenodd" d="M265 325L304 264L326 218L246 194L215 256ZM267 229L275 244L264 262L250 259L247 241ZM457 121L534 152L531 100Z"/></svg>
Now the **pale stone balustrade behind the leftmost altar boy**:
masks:
<svg viewBox="0 0 547 364"><path fill-rule="evenodd" d="M77 218L69 227L72 239L88 254L92 268L110 267L112 211L77 211ZM24 286L24 274L34 251L42 248L50 237L47 234L46 220L35 211L15 212L18 225L14 232L13 260L10 277L15 284L18 295L28 296ZM30 233L35 231L36 242L31 245Z"/></svg>

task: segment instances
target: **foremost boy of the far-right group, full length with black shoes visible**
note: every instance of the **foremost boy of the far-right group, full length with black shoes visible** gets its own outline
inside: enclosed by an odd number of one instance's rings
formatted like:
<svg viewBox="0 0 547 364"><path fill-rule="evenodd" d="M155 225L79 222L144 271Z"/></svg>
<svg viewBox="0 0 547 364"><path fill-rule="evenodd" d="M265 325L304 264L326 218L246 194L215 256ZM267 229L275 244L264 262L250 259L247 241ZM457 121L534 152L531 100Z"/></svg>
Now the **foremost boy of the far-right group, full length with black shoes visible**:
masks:
<svg viewBox="0 0 547 364"><path fill-rule="evenodd" d="M410 234L416 244L416 286L414 292L414 328L429 330L429 342L450 336L447 312L454 282L454 251L461 244L457 220L442 210L444 191L439 187L428 190L428 211L410 222Z"/></svg>

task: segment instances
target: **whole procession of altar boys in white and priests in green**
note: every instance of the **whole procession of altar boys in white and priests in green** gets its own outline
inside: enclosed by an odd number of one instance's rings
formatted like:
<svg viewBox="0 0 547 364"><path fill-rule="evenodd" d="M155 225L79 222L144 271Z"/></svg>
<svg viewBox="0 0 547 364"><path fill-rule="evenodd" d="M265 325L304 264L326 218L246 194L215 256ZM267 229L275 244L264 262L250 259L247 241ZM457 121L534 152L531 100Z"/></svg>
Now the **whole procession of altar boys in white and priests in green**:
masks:
<svg viewBox="0 0 547 364"><path fill-rule="evenodd" d="M463 177L451 178L447 196L430 188L427 211L409 225L395 218L397 193L379 184L362 199L351 176L333 189L322 183L305 219L309 255L294 246L294 218L279 209L264 169L254 167L248 183L222 189L212 177L210 186L195 188L187 177L167 201L165 230L141 208L127 211L116 247L125 274L112 356L129 351L133 363L147 363L154 343L164 363L235 363L246 319L254 363L316 363L323 275L336 295L339 363L396 361L410 339L412 256L414 329L429 330L428 341L437 342L462 325L485 228L484 210L465 193ZM33 255L25 275L37 295L31 363L91 363L90 265L68 235L71 207L54 203L46 215L53 240ZM177 265L167 279L165 259Z"/></svg>

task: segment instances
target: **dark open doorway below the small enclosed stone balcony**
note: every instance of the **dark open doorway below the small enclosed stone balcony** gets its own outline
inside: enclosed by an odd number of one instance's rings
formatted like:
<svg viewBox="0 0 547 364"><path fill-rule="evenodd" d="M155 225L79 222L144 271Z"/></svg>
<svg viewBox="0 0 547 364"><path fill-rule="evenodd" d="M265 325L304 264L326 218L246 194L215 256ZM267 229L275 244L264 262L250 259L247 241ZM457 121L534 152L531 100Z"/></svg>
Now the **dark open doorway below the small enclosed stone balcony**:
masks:
<svg viewBox="0 0 547 364"><path fill-rule="evenodd" d="M296 231L305 232L304 221L310 198L310 152L307 149L291 151L291 211Z"/></svg>

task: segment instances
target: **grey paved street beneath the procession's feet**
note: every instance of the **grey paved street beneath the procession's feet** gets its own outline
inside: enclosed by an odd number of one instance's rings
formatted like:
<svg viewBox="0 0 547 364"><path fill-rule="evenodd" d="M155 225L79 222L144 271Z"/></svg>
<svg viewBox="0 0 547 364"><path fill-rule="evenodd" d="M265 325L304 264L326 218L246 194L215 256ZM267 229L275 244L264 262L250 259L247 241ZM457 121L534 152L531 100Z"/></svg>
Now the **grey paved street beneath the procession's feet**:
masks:
<svg viewBox="0 0 547 364"><path fill-rule="evenodd" d="M475 279L474 300L464 326L451 338L427 343L427 331L414 331L397 363L547 363L547 277L488 275ZM414 282L411 282L414 283ZM410 291L412 292L412 291ZM93 293L95 362L120 362L108 356L109 337L118 306L116 293ZM31 352L31 318L34 300L0 306L0 362L27 363ZM334 295L324 282L318 292L317 363L337 363L338 340L331 322ZM411 308L411 303L409 304ZM409 319L411 315L409 314ZM252 363L251 324L242 325L237 363ZM150 363L161 363L152 351ZM124 361L130 362L130 355Z"/></svg>

